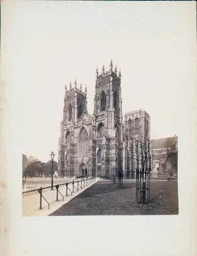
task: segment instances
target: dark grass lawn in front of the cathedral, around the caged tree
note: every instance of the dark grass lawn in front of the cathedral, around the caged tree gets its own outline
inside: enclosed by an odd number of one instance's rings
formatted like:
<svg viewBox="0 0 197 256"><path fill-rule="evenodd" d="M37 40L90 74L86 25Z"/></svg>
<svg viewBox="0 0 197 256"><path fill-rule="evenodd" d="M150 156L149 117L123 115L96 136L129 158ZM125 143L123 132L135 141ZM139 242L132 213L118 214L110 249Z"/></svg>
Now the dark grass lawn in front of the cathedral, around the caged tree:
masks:
<svg viewBox="0 0 197 256"><path fill-rule="evenodd" d="M79 196L54 211L51 216L84 215L177 215L177 181L151 181L151 202L136 204L135 181L126 181L125 188L111 181L98 181Z"/></svg>

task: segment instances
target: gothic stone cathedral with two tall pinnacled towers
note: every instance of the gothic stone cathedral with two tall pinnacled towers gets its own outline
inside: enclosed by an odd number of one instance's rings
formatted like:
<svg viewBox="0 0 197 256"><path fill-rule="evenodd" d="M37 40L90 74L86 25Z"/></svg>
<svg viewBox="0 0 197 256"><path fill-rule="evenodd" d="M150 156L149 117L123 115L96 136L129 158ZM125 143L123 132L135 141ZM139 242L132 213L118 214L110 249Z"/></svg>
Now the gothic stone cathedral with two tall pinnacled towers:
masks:
<svg viewBox="0 0 197 256"><path fill-rule="evenodd" d="M123 120L121 72L113 69L112 60L109 70L103 66L99 74L96 68L93 115L87 111L87 87L82 91L75 79L73 87L65 86L58 175L112 178L121 170L134 178L142 163L137 157L142 150L139 142L150 138L148 127L150 116L145 110L128 112ZM146 155L146 167L151 167L151 152Z"/></svg>

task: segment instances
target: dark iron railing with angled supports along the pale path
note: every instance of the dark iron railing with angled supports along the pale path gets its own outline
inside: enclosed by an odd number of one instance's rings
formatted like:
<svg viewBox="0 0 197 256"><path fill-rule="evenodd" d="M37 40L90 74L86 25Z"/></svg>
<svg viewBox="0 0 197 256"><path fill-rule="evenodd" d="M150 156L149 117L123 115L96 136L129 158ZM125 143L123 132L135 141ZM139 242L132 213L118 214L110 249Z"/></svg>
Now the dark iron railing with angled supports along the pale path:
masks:
<svg viewBox="0 0 197 256"><path fill-rule="evenodd" d="M66 195L65 196L68 196L68 194L71 194L71 196L72 196L72 193L74 193L75 191L78 192L78 190L83 189L85 186L90 185L94 181L95 181L95 177L91 177L91 178L84 178L83 180L82 179L81 180L76 180L76 181L73 180L71 182L66 182L66 183L62 183L62 184L53 185L53 187L56 188L56 201L59 201L59 199L58 199L59 194L62 196L62 201L64 201L64 196L59 191L60 186L66 186ZM76 183L77 183L77 185L76 185ZM71 190L68 187L69 184L72 184ZM44 199L46 201L46 203L48 204L48 209L50 209L50 203L48 203L48 201L46 200L46 198L42 194L42 191L44 189L48 189L48 188L52 188L52 186L30 189L30 190L27 190L27 191L23 191L22 194L27 194L27 193L31 193L31 192L34 192L34 191L38 191L38 193L40 194L39 209L40 210L42 209L42 199Z"/></svg>

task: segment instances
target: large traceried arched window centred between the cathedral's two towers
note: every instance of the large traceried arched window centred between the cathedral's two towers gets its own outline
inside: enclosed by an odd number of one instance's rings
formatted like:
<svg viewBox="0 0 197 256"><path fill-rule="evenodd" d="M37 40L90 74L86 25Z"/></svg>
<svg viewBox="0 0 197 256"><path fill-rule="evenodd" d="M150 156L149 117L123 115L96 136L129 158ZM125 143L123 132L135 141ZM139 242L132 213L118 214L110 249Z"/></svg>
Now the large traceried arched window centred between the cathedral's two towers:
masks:
<svg viewBox="0 0 197 256"><path fill-rule="evenodd" d="M79 143L78 143L78 156L79 158L88 157L88 133L83 127L79 134Z"/></svg>

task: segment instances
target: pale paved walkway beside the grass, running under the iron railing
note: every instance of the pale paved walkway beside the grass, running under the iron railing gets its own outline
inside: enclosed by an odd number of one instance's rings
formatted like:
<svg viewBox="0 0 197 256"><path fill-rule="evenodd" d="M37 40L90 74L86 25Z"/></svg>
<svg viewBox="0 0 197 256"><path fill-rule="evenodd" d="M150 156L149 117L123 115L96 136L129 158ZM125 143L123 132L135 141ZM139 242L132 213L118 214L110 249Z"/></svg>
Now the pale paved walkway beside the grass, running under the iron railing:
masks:
<svg viewBox="0 0 197 256"><path fill-rule="evenodd" d="M64 196L64 201L62 200L62 196L58 193L59 201L56 201L57 190L54 187L54 190L51 188L44 189L42 191L43 197L50 203L50 209L48 209L48 204L42 198L42 209L39 209L40 206L40 194L38 191L30 192L22 195L22 216L47 216L52 214L55 210L61 207L63 204L69 202L72 198L76 197L80 193L82 193L85 189L93 185L99 179L96 178L94 182L90 183L88 186L83 187L82 189L79 186L79 190L77 192L77 182L75 183L74 193L71 193L68 190L68 196L66 195L66 185L62 185L59 187L60 193ZM83 184L83 182L82 182ZM81 185L81 181L79 182ZM72 191L72 184L68 184L68 188Z"/></svg>

